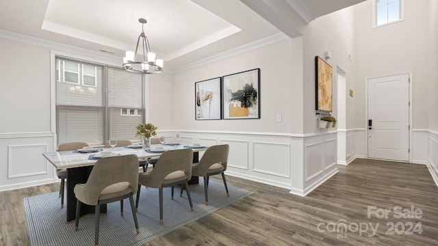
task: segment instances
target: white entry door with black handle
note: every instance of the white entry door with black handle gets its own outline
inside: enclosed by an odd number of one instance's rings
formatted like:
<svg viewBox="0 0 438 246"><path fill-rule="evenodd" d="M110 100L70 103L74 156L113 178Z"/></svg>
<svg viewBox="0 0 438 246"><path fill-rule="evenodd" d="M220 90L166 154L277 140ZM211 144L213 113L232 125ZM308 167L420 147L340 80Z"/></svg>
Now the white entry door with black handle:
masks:
<svg viewBox="0 0 438 246"><path fill-rule="evenodd" d="M368 157L409 161L409 74L368 79Z"/></svg>

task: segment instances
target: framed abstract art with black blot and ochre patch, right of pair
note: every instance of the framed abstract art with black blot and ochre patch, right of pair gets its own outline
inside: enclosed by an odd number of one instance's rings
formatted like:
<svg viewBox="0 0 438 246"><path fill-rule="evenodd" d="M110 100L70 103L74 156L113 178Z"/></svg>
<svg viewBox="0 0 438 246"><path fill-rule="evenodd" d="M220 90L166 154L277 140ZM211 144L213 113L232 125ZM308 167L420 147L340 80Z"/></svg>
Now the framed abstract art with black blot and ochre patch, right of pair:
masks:
<svg viewBox="0 0 438 246"><path fill-rule="evenodd" d="M260 68L222 77L222 118L260 118Z"/></svg>

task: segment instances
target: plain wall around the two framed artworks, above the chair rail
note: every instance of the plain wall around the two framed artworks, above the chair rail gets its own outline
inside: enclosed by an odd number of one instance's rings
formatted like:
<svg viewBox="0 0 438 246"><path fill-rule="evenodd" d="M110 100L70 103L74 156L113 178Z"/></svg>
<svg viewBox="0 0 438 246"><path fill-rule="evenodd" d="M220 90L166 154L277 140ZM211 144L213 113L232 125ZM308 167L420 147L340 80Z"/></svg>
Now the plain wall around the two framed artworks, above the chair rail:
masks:
<svg viewBox="0 0 438 246"><path fill-rule="evenodd" d="M300 123L291 113L301 111L292 81L292 49L290 39L276 42L192 70L174 77L175 124L181 130L245 131L266 133L300 133ZM194 83L227 74L260 68L259 120L195 120ZM276 114L283 115L276 122ZM298 121L300 118L298 118Z"/></svg>

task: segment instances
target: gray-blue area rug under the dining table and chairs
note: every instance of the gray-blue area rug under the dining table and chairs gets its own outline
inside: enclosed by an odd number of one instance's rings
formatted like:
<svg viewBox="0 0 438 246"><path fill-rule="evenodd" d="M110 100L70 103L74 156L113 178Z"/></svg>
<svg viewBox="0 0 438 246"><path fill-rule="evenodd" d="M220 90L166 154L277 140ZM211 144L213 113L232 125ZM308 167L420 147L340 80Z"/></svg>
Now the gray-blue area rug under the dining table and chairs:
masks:
<svg viewBox="0 0 438 246"><path fill-rule="evenodd" d="M253 193L229 185L230 196L227 197L224 184L210 180L209 206L205 206L203 178L199 178L199 182L190 186L194 212L190 211L185 191L180 197L180 188L175 187L175 197L171 200L170 187L164 188L162 226L159 225L158 189L142 187L137 212L140 234L136 234L129 199L125 199L123 217L120 202L107 204L107 215L100 217L99 245L142 245ZM135 202L136 196L133 198ZM79 230L75 232L74 222L66 224L66 208L60 208L60 199L57 192L24 199L31 245L94 245L94 215L81 217Z"/></svg>

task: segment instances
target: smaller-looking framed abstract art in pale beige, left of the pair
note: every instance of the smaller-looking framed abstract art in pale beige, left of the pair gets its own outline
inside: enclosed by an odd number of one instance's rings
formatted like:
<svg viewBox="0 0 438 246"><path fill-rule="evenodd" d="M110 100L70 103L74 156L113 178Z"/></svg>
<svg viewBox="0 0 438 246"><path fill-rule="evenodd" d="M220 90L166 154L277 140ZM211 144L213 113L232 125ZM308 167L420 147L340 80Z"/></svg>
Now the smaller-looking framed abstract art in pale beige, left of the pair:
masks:
<svg viewBox="0 0 438 246"><path fill-rule="evenodd" d="M196 120L221 119L220 84L220 77L194 83Z"/></svg>

